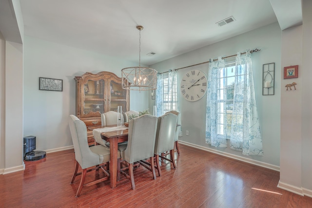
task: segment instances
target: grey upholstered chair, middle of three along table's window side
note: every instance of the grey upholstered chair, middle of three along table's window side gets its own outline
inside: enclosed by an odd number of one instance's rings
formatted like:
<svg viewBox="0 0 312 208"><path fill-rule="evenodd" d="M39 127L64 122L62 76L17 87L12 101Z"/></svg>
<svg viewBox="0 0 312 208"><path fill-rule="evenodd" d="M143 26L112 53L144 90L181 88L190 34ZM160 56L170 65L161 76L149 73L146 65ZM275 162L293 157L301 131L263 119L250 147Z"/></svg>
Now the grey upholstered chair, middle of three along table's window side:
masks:
<svg viewBox="0 0 312 208"><path fill-rule="evenodd" d="M176 169L176 161L175 161L175 154L174 154L176 120L177 120L177 115L173 113L166 113L158 117L154 154L155 154L155 160L156 160L156 169L158 171L159 176L161 176L159 157L171 162L174 166L174 169ZM170 151L170 159L163 155L159 155L167 151Z"/></svg>

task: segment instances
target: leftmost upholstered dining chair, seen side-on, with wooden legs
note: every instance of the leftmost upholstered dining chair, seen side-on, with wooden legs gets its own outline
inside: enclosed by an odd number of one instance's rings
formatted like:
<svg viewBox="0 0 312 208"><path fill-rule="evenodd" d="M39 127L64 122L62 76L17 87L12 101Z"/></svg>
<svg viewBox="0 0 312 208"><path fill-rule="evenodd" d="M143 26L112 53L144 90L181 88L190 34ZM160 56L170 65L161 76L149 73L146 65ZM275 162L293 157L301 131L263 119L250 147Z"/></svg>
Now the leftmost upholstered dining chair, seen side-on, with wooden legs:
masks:
<svg viewBox="0 0 312 208"><path fill-rule="evenodd" d="M76 197L79 197L83 187L97 184L109 178L109 173L103 168L103 166L106 165L108 169L110 150L102 145L89 147L87 127L85 123L79 120L75 115L69 116L68 123L72 135L76 159L76 168L70 183L73 184L76 176L81 174L80 184L76 193ZM79 166L81 167L82 172L78 172ZM90 169L91 167L93 168ZM103 170L106 176L85 184L87 172L99 169Z"/></svg>

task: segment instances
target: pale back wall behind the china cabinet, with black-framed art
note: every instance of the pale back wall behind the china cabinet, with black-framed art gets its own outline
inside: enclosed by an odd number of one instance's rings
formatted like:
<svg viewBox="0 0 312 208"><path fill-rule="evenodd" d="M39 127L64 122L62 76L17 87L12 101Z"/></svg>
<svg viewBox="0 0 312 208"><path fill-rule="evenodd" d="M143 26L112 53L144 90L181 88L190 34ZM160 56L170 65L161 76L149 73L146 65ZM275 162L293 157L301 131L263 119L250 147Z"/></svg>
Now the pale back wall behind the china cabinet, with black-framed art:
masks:
<svg viewBox="0 0 312 208"><path fill-rule="evenodd" d="M24 38L24 136L37 136L37 150L71 148L68 115L75 114L75 76L85 72L113 72L137 63L55 44ZM39 77L63 79L63 92L40 91ZM131 92L130 108L148 108L147 92Z"/></svg>

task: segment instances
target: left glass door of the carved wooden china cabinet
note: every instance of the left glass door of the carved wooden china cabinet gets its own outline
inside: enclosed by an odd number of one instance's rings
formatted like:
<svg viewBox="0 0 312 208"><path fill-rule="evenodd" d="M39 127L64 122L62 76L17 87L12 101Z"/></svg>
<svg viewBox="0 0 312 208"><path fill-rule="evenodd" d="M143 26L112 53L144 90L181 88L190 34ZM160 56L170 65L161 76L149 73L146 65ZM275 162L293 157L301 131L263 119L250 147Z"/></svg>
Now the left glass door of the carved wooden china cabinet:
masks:
<svg viewBox="0 0 312 208"><path fill-rule="evenodd" d="M83 86L84 90L84 102L83 102L83 114L89 114L91 112L104 113L104 89L105 81L100 80L88 80Z"/></svg>

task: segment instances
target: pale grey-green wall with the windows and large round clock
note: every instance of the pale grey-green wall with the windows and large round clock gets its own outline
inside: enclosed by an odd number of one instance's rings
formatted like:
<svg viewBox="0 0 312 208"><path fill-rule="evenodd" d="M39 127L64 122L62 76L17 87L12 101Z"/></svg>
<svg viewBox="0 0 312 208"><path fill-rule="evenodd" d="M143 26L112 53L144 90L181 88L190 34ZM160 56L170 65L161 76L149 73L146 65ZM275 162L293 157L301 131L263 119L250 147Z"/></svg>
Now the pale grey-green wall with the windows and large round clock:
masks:
<svg viewBox="0 0 312 208"><path fill-rule="evenodd" d="M156 63L151 67L159 72L164 72L169 69L201 63L210 58L230 56L236 54L238 51L245 52L246 49L255 48L261 49L260 52L252 54L252 60L264 156L243 156L239 151L234 151L229 148L217 149L206 144L205 112L207 95L196 102L189 102L183 98L179 99L183 129L183 137L179 139L182 142L187 142L199 148L217 152L220 151L221 153L226 153L238 159L248 158L278 170L280 153L281 30L277 22L234 38L205 46L190 53ZM272 62L275 63L275 95L263 96L262 65ZM208 64L203 64L178 70L177 81L179 83L183 74L191 69L199 69L208 76L208 67ZM180 93L179 90L178 93ZM150 106L153 104L150 104ZM189 136L185 135L186 130L189 131Z"/></svg>

